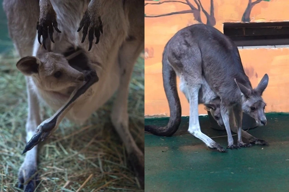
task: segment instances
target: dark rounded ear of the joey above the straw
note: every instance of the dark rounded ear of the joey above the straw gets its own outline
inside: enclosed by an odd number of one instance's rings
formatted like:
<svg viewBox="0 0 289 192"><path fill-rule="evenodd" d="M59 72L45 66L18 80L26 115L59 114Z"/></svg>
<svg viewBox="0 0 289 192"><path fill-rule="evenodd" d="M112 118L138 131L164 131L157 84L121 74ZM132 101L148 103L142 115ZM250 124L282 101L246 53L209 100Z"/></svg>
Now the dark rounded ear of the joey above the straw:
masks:
<svg viewBox="0 0 289 192"><path fill-rule="evenodd" d="M40 60L37 57L26 56L17 62L16 67L23 75L30 76L38 72L39 64Z"/></svg>

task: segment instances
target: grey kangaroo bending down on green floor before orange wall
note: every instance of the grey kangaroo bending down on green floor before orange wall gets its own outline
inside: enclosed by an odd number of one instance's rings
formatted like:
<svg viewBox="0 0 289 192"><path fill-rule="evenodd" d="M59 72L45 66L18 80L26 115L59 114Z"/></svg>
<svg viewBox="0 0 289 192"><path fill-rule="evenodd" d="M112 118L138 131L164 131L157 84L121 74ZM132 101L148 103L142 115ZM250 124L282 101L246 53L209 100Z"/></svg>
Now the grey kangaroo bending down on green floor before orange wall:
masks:
<svg viewBox="0 0 289 192"><path fill-rule="evenodd" d="M209 148L226 151L200 130L198 104L206 103L200 98L204 97L203 89L207 89L207 104L216 97L221 99L220 114L228 135L227 148L251 146L242 142L242 136L251 143L267 145L267 142L242 131L241 120L244 111L256 120L258 126L266 125L266 104L261 96L268 85L268 75L265 74L253 89L234 42L214 27L204 24L179 30L166 44L163 51L163 84L169 101L170 119L167 126L145 126L146 131L171 136L178 129L181 105L176 91L176 75L180 77L181 90L190 103L189 133L201 139ZM207 107L212 108L210 105ZM215 107L212 109L216 111ZM231 129L238 133L237 145L234 145Z"/></svg>

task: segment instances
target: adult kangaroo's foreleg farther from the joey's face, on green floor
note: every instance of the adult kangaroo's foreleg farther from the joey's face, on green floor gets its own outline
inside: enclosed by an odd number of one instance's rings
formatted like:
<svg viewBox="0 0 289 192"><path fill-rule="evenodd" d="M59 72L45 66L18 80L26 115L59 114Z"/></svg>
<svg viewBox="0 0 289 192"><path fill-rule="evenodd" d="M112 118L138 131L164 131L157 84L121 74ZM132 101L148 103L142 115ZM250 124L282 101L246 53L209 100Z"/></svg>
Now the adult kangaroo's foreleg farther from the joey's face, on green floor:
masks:
<svg viewBox="0 0 289 192"><path fill-rule="evenodd" d="M242 111L241 105L235 105L233 107L233 111L234 111L234 117L236 119L236 124L237 124L237 128L238 128L238 142L237 142L238 147L252 147L252 145L250 143L244 143L242 141L242 116L243 116L243 111ZM233 126L233 127L235 127L235 126Z"/></svg>

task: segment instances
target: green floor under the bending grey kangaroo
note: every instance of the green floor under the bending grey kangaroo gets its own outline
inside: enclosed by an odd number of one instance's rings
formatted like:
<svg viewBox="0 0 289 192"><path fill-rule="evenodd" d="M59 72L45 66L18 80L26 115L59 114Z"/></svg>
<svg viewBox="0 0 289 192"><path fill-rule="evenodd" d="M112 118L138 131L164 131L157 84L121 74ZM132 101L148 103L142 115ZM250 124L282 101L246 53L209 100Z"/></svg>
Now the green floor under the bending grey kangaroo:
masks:
<svg viewBox="0 0 289 192"><path fill-rule="evenodd" d="M145 191L289 191L289 114L266 117L266 126L248 133L266 140L269 146L254 145L228 153L210 150L190 135L186 131L188 117L182 118L172 137L145 134ZM168 118L145 119L147 125L164 126L167 122ZM200 126L203 133L227 146L226 132L209 128L207 116L200 117ZM237 140L237 136L233 138Z"/></svg>

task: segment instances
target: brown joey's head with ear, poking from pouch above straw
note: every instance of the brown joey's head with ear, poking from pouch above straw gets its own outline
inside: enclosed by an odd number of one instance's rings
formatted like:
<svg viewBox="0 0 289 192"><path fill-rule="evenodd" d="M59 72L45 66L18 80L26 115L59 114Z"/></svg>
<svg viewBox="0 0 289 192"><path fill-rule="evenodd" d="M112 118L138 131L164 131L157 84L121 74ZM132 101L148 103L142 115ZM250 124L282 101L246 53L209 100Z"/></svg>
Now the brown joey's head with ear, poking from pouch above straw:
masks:
<svg viewBox="0 0 289 192"><path fill-rule="evenodd" d="M31 76L38 88L62 96L69 97L84 81L84 74L71 67L67 59L57 53L26 56L16 66L23 75Z"/></svg>

